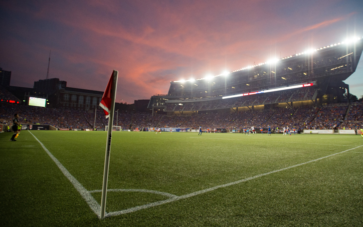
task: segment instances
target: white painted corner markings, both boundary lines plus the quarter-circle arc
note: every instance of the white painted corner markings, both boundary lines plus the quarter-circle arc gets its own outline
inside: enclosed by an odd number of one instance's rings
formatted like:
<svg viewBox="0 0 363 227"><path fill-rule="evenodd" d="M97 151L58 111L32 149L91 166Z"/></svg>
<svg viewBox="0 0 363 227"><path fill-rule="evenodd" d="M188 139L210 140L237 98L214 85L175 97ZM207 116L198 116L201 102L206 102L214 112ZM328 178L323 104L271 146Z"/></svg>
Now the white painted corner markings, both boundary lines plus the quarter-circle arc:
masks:
<svg viewBox="0 0 363 227"><path fill-rule="evenodd" d="M30 132L30 134L32 134L32 133ZM98 204L98 202L93 198L93 196L91 195L91 193L93 193L93 192L100 192L101 190L88 191L86 188L84 188L82 186L82 184L80 182L78 182L78 180L76 180L76 178L74 178L74 176L72 176L68 172L68 170L58 161L58 159L56 157L54 157L51 154L51 152L49 152L49 150L43 145L43 143L41 141L39 141L39 139L37 137L35 137L35 135L33 135L33 136L42 145L43 149L53 159L53 161L57 164L57 166L61 169L61 171L63 172L63 174L71 181L71 183L74 185L74 187L78 190L78 192L86 200L86 202L88 203L88 205L90 206L90 208L93 210L93 212L95 212L95 214L98 217L100 217L99 216L99 213L100 213L100 208L101 207ZM203 194L203 193L206 193L206 192L209 192L209 191L214 191L214 190L219 189L219 188L228 187L228 186L231 186L231 185L235 185L235 184L239 184L239 183L246 182L246 181L249 181L249 180L253 180L253 179L256 179L256 178L261 177L261 176L269 175L271 173L281 172L283 170L287 170L287 169L291 169L291 168L294 168L294 167L298 167L300 165L305 165L305 164L308 164L308 163L311 163L311 162L319 161L321 159L328 158L328 157L331 157L331 156L334 156L334 155L337 155L337 154L341 154L341 153L344 153L344 152L347 152L347 151L350 151L350 150L354 150L354 149L359 148L359 147L363 147L363 145L360 145L360 146L357 146L357 147L354 147L354 148L351 148L351 149L348 149L348 150L344 150L344 151L341 151L341 152L338 152L338 153L335 153L335 154L330 154L330 155L327 155L327 156L324 156L324 157L321 157L321 158L317 158L317 159L314 159L314 160L311 160L311 161L303 162L303 163L296 164L296 165L291 165L291 166L286 167L286 168L282 168L282 169L278 169L278 170L273 170L271 172L258 174L258 175L251 176L251 177L248 177L248 178L245 178L245 179L241 179L241 180L237 180L237 181L234 181L234 182L231 182L231 183L217 185L217 186L210 187L210 188L207 188L207 189L204 189L204 190L195 191L195 192L192 192L192 193L189 193L189 194L185 194L185 195L180 195L180 196L173 195L173 194L169 194L169 193L166 193L166 192L159 192L159 191L153 191L153 190L144 190L144 189L108 189L107 191L138 191L138 192L149 192L149 193L155 193L155 194L162 194L162 195L167 196L167 197L170 197L170 198L165 199L165 200L160 200L160 201L157 201L157 202L148 203L148 204L141 205L141 206L135 206L135 207L128 208L128 209L124 209L124 210L109 212L109 213L106 213L105 214L105 217L116 216L116 215L120 215L120 214L124 214L124 213L130 213L130 212L134 212L134 211L137 211L137 210L146 209L146 208L150 208L150 207L153 207L153 206L157 206L157 205L161 205L161 204L165 204L165 203L177 201L179 199L193 197L195 195Z"/></svg>

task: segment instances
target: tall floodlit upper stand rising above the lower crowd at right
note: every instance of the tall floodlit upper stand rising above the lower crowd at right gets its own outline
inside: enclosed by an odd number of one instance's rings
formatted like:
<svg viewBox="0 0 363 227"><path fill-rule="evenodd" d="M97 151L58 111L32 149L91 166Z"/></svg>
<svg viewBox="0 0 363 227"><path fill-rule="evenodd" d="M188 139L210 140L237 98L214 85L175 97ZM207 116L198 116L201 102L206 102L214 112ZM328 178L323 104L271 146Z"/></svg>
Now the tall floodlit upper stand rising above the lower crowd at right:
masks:
<svg viewBox="0 0 363 227"><path fill-rule="evenodd" d="M152 96L148 108L197 114L342 102L349 93L343 81L355 72L362 50L363 38L354 38L223 75L171 81L168 93Z"/></svg>

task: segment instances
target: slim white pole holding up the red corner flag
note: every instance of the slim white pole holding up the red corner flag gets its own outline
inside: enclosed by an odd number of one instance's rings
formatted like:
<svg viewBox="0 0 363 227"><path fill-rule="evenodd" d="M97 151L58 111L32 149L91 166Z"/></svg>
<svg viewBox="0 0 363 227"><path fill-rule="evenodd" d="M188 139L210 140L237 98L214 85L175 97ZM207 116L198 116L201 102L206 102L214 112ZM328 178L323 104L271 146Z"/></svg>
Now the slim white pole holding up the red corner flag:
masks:
<svg viewBox="0 0 363 227"><path fill-rule="evenodd" d="M117 76L118 76L118 71L114 70L112 73L113 82L112 82L112 92L111 92L111 106L108 112L109 118L108 118L108 131L107 131L107 140L106 140L105 166L103 169L103 184L102 184L101 213L100 213L101 219L105 217L105 211L106 211L108 167L110 164L111 137L112 137L113 115L115 109L115 98L116 98L116 89L117 89Z"/></svg>

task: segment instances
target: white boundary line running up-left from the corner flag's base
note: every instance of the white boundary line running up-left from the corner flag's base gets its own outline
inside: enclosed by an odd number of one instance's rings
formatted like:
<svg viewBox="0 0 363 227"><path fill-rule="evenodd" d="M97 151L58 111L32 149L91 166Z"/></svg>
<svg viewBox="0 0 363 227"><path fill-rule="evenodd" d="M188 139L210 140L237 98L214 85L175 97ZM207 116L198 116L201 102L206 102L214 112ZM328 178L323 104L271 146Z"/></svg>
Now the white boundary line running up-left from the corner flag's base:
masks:
<svg viewBox="0 0 363 227"><path fill-rule="evenodd" d="M40 143L40 145L43 147L43 149L47 152L47 154L52 158L52 160L56 163L58 168L63 172L63 174L68 178L69 181L73 184L73 186L77 189L77 191L81 194L81 196L86 200L89 207L93 210L93 212L100 218L100 212L101 212L101 206L98 204L96 199L91 195L89 191L85 187L82 186L80 182L74 176L71 175L70 172L58 161L56 157L53 156L53 154L43 145L41 141L33 133L31 133L29 130L28 132L34 136L34 138Z"/></svg>

